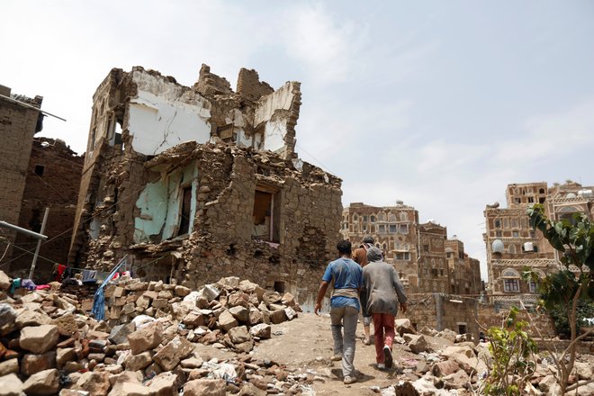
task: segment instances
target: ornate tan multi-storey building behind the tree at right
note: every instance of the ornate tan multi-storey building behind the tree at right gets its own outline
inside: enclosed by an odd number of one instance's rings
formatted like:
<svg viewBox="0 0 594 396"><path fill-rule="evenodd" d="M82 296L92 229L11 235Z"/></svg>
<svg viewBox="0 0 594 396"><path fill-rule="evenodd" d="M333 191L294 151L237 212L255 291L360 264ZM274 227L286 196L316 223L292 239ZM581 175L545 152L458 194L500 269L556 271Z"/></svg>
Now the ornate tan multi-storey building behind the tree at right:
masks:
<svg viewBox="0 0 594 396"><path fill-rule="evenodd" d="M489 269L489 294L499 306L534 304L538 297L536 283L526 282L521 273L530 268L540 277L559 269L557 252L539 230L532 229L527 207L545 206L546 215L554 220L571 217L574 212L594 213L593 187L568 181L547 187L545 182L509 184L507 208L499 203L487 205L483 234Z"/></svg>

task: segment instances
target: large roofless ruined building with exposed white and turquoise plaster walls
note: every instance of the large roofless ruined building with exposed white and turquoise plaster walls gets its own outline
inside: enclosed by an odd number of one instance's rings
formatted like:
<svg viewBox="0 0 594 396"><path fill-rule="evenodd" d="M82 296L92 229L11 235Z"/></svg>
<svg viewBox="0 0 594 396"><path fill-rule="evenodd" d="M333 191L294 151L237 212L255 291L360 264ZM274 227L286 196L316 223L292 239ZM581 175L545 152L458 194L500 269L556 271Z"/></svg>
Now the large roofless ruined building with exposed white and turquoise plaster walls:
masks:
<svg viewBox="0 0 594 396"><path fill-rule="evenodd" d="M295 153L300 84L242 68L234 92L114 68L94 97L69 261L194 288L241 276L312 305L335 256L341 181Z"/></svg>

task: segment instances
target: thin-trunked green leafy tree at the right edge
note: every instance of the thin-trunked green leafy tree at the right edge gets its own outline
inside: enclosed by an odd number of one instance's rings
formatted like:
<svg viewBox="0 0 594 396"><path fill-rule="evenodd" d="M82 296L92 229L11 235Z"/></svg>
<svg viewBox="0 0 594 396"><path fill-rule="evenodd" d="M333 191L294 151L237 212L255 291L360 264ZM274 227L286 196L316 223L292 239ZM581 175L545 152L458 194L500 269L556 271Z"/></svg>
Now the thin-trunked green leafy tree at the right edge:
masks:
<svg viewBox="0 0 594 396"><path fill-rule="evenodd" d="M578 336L577 314L579 302L594 301L594 224L584 213L573 213L571 219L548 219L541 204L529 207L527 215L530 225L539 229L560 253L561 270L546 275L540 281L539 289L545 309L553 311L561 305L567 312L570 345L561 356L552 354L560 375L557 381L561 386L561 394L564 394L594 381L567 385L575 362L576 342L591 333L589 331Z"/></svg>

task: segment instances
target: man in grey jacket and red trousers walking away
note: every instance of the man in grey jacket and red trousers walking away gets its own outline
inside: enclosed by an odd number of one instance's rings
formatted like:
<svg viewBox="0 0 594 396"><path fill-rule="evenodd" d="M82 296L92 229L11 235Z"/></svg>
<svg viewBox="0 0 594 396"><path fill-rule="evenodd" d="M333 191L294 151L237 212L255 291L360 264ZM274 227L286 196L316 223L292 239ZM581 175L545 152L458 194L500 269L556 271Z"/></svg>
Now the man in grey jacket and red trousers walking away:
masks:
<svg viewBox="0 0 594 396"><path fill-rule="evenodd" d="M400 303L402 313L407 310L407 297L394 267L384 263L382 251L377 247L367 250L369 264L363 269L367 311L374 319L375 360L377 368L392 367L394 318Z"/></svg>

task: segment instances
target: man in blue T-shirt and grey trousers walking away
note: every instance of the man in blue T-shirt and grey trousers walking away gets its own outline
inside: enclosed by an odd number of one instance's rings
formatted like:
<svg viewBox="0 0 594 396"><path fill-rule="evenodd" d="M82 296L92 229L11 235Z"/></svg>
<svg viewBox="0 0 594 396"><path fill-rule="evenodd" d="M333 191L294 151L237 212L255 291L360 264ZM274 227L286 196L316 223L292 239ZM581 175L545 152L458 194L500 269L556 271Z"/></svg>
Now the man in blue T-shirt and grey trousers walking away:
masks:
<svg viewBox="0 0 594 396"><path fill-rule="evenodd" d="M330 298L330 321L334 338L334 357L342 358L342 374L346 384L356 383L355 333L356 322L361 305L359 293L363 287L363 269L351 259L351 243L341 240L337 245L340 258L332 261L322 276L314 313L319 315L321 302L330 282L334 291ZM343 329L344 328L344 336Z"/></svg>

